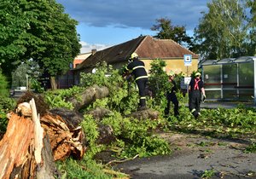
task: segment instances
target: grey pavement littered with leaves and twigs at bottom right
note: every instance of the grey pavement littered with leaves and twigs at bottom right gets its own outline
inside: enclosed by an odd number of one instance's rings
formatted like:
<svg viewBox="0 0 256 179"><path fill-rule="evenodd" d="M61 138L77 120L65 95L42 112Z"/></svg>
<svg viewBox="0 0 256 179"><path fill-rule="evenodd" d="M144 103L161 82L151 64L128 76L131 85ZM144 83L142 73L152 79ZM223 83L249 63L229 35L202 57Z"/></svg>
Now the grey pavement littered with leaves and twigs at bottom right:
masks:
<svg viewBox="0 0 256 179"><path fill-rule="evenodd" d="M113 165L113 169L139 179L196 179L203 174L208 178L256 178L256 153L244 153L255 139L230 140L175 132L160 136L169 141L172 154L132 159Z"/></svg>

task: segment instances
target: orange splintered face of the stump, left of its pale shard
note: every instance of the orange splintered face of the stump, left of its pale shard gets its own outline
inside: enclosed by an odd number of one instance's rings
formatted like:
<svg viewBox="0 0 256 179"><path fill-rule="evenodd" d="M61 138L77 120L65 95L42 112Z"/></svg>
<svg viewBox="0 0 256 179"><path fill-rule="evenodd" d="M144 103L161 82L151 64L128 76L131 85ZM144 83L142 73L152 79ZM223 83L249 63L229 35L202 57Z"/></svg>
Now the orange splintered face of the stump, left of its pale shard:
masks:
<svg viewBox="0 0 256 179"><path fill-rule="evenodd" d="M20 168L20 176L34 176L35 160L32 153L34 124L23 116L11 113L6 134L0 141L0 178L9 178L14 168ZM30 167L26 167L26 165ZM26 168L26 171L24 170ZM23 170L23 172L22 172Z"/></svg>

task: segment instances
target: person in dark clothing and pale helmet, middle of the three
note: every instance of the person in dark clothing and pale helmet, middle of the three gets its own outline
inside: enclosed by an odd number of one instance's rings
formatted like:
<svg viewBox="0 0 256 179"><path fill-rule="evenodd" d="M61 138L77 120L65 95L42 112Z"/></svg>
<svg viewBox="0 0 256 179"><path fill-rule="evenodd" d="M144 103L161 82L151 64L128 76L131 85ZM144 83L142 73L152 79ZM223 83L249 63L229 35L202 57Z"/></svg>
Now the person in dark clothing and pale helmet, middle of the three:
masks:
<svg viewBox="0 0 256 179"><path fill-rule="evenodd" d="M168 82L169 83L172 83L173 86L172 86L172 90L171 91L168 91L166 93L166 99L167 99L167 106L165 108L165 116L167 117L169 115L169 112L170 112L170 104L171 104L171 101L174 105L174 116L178 116L179 113L178 113L178 101L177 101L177 96L176 96L176 91L177 91L177 85L174 81L174 77L175 77L175 74L174 72L170 72L169 73L169 80Z"/></svg>

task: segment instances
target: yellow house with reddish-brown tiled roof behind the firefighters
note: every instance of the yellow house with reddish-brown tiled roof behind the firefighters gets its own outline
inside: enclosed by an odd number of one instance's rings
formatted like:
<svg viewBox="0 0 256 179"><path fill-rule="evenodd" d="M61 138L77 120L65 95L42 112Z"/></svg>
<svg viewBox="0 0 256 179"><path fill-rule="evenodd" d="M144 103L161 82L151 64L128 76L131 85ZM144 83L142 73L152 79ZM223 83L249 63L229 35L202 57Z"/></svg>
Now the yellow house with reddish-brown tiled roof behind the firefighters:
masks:
<svg viewBox="0 0 256 179"><path fill-rule="evenodd" d="M198 55L184 48L171 39L156 39L151 36L140 36L125 43L120 43L108 49L96 51L74 69L76 78L80 72L92 72L98 62L106 61L108 65L119 69L128 63L130 55L136 52L139 59L145 63L149 71L150 63L156 59L166 61L166 72L183 72L189 76L198 67ZM184 55L190 55L189 66L184 64ZM75 80L79 83L79 79Z"/></svg>

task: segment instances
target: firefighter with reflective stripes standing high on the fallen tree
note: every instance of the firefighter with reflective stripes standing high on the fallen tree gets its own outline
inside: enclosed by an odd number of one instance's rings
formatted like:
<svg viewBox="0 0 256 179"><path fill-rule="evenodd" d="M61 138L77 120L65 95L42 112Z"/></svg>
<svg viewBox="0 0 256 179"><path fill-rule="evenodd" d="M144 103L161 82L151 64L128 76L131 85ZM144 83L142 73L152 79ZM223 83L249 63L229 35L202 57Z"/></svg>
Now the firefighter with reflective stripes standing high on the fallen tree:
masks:
<svg viewBox="0 0 256 179"><path fill-rule="evenodd" d="M131 71L134 75L137 88L139 90L139 106L138 110L146 109L146 86L148 84L148 74L145 70L145 64L138 59L137 53L132 53L129 60L131 61L126 67L127 71Z"/></svg>

